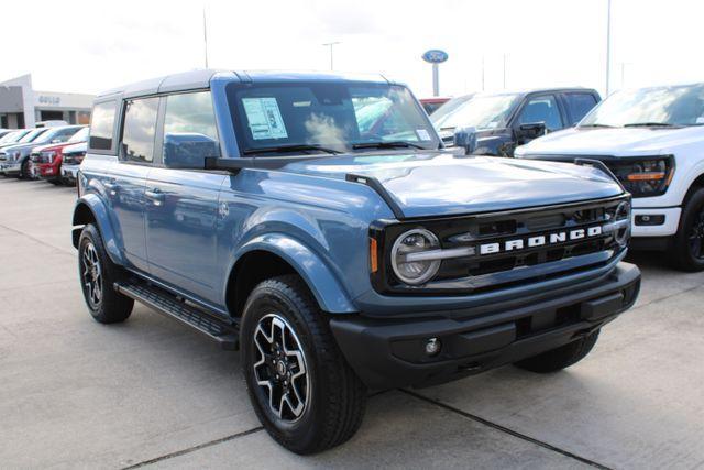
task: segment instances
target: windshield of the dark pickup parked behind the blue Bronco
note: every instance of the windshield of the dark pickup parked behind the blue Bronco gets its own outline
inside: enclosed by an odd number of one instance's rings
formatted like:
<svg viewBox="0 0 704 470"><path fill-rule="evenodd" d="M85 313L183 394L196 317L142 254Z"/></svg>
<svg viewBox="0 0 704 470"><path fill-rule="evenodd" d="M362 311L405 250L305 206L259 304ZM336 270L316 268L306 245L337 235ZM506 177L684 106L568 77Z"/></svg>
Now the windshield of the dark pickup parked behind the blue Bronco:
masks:
<svg viewBox="0 0 704 470"><path fill-rule="evenodd" d="M520 95L475 96L455 109L438 116L442 108L432 116L436 129L476 128L496 129L506 127L512 111L518 105ZM449 105L449 103L448 103Z"/></svg>

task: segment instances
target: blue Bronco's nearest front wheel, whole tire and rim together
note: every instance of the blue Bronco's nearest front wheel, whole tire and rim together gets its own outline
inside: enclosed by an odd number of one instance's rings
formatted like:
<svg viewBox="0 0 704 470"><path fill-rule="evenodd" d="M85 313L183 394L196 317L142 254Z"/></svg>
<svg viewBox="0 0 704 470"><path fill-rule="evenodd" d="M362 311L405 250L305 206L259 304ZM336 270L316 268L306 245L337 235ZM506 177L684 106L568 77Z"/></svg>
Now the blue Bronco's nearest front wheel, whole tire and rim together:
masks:
<svg viewBox="0 0 704 470"><path fill-rule="evenodd" d="M240 335L252 405L277 442L305 455L354 435L362 424L366 389L298 276L256 286L244 307Z"/></svg>

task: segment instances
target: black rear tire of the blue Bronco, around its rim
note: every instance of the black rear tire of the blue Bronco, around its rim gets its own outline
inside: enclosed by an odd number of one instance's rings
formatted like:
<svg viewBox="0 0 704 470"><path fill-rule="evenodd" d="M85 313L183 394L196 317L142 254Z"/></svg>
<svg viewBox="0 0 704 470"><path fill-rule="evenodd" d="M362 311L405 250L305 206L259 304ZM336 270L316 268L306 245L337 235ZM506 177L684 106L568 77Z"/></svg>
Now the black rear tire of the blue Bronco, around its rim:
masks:
<svg viewBox="0 0 704 470"><path fill-rule="evenodd" d="M98 260L100 280L96 284L100 286L99 302L91 299L90 287L87 285L87 256L90 247L95 250L92 258ZM84 293L86 306L92 317L101 324L116 324L124 321L132 314L134 300L113 288L117 281L125 278L127 272L121 266L114 264L106 252L98 228L88 223L84 227L78 241L78 278Z"/></svg>

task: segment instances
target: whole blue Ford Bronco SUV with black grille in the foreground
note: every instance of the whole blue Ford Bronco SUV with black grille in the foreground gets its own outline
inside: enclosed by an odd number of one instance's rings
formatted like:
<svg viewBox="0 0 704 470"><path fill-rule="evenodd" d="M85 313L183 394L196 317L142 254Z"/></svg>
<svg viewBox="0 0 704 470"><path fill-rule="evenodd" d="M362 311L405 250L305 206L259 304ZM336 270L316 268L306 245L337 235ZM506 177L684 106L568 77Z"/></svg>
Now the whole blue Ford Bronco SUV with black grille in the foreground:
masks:
<svg viewBox="0 0 704 470"><path fill-rule="evenodd" d="M628 309L630 195L598 162L458 155L382 76L199 70L100 95L73 242L92 317L134 300L241 351L311 453L369 390L566 368Z"/></svg>

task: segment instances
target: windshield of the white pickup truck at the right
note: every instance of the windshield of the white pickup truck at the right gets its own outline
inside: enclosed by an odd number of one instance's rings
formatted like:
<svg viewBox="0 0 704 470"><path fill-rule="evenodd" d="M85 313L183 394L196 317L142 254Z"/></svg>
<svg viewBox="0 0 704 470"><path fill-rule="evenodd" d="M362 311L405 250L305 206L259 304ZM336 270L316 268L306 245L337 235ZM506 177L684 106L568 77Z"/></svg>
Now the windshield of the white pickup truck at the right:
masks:
<svg viewBox="0 0 704 470"><path fill-rule="evenodd" d="M606 98L580 127L704 124L704 84L623 90Z"/></svg>

